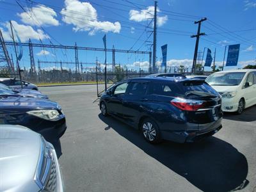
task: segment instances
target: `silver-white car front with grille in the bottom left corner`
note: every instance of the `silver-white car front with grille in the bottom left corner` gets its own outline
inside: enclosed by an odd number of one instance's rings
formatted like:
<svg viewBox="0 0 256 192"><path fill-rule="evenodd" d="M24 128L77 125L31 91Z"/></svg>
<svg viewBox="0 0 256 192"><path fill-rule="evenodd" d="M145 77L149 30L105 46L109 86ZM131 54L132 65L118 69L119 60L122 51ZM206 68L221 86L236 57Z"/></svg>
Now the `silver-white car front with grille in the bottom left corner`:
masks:
<svg viewBox="0 0 256 192"><path fill-rule="evenodd" d="M20 125L0 125L0 191L63 191L51 143Z"/></svg>

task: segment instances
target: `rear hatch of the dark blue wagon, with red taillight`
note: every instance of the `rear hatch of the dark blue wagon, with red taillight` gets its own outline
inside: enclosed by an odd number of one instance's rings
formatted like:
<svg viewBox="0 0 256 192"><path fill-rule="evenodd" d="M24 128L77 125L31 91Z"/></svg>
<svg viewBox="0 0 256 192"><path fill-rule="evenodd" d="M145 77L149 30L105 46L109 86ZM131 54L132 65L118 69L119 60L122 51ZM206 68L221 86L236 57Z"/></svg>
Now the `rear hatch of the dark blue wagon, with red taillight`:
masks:
<svg viewBox="0 0 256 192"><path fill-rule="evenodd" d="M212 127L220 122L223 116L221 96L209 84L200 79L188 79L180 81L179 88L184 95L173 99L172 104L185 111L189 123L205 129L205 124Z"/></svg>

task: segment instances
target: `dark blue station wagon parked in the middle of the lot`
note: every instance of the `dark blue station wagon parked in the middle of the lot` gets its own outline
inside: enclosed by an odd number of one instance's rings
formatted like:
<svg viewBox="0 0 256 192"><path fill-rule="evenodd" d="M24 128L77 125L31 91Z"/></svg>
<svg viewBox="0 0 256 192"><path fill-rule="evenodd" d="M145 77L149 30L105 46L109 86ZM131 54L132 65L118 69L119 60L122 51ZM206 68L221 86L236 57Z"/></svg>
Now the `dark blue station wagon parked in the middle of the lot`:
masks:
<svg viewBox="0 0 256 192"><path fill-rule="evenodd" d="M142 77L115 84L100 97L102 115L140 129L150 143L179 143L221 129L221 96L200 79Z"/></svg>

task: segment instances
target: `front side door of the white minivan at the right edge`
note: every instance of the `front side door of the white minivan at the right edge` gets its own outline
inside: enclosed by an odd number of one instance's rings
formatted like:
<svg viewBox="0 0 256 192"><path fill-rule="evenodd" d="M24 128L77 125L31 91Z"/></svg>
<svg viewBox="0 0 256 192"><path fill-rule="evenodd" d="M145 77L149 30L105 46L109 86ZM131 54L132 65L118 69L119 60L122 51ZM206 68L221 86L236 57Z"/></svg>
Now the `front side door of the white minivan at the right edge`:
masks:
<svg viewBox="0 0 256 192"><path fill-rule="evenodd" d="M245 107L252 106L255 100L255 88L253 86L253 72L250 72L243 84L243 97L245 100Z"/></svg>

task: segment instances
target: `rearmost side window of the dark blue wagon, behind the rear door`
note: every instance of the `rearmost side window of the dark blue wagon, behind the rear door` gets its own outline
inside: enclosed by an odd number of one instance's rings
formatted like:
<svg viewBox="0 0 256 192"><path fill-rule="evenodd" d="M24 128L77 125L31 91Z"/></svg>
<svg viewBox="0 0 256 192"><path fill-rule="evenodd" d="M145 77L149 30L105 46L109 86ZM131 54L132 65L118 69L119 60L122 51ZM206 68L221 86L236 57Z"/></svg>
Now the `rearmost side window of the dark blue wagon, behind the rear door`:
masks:
<svg viewBox="0 0 256 192"><path fill-rule="evenodd" d="M150 86L150 94L178 97L182 95L180 89L174 83L153 83Z"/></svg>

